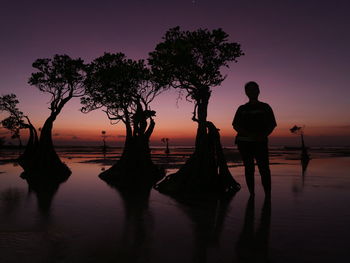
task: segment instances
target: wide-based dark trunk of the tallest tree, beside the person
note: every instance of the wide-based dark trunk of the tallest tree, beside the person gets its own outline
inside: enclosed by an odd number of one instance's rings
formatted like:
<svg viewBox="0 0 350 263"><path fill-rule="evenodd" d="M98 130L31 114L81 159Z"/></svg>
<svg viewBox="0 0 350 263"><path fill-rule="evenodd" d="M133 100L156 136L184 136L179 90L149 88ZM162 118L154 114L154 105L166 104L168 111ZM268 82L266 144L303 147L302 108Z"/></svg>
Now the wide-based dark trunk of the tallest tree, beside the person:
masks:
<svg viewBox="0 0 350 263"><path fill-rule="evenodd" d="M235 193L240 185L228 170L218 129L207 121L210 92L198 100L198 122L195 150L187 162L174 174L156 185L156 189L170 195Z"/></svg>

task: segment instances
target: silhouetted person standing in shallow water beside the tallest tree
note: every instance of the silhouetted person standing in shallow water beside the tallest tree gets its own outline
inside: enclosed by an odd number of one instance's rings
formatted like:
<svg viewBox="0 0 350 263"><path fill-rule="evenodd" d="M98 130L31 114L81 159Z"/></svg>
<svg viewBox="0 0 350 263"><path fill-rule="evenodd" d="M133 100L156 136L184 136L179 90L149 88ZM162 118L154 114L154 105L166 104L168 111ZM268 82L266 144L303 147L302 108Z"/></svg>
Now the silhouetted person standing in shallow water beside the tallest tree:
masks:
<svg viewBox="0 0 350 263"><path fill-rule="evenodd" d="M271 107L258 100L259 85L250 81L245 84L249 101L239 106L232 122L237 131L236 144L245 167L245 179L251 195L254 195L254 159L257 162L265 195L271 195L268 139L276 127Z"/></svg>

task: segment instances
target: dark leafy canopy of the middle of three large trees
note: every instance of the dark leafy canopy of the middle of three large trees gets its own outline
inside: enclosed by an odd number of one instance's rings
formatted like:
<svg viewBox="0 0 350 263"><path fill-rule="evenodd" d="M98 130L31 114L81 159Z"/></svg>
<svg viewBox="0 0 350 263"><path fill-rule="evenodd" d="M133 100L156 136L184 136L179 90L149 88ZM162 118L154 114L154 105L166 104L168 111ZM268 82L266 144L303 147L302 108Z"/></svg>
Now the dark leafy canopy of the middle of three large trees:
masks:
<svg viewBox="0 0 350 263"><path fill-rule="evenodd" d="M82 112L103 108L112 123L131 123L142 108L154 116L149 104L161 92L143 60L127 59L123 53L105 53L87 68Z"/></svg>

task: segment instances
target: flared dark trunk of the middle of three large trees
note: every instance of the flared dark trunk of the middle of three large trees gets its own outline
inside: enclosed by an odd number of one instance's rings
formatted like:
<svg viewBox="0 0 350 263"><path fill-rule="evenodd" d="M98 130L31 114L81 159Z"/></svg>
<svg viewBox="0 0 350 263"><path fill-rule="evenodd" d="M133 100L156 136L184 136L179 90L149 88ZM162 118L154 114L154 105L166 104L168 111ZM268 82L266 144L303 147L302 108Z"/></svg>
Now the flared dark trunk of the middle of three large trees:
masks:
<svg viewBox="0 0 350 263"><path fill-rule="evenodd" d="M149 137L153 131L151 123L144 134L130 133L127 129L125 146L120 159L99 176L117 187L151 187L163 178L163 173L153 163L149 148ZM151 130L150 130L151 129Z"/></svg>

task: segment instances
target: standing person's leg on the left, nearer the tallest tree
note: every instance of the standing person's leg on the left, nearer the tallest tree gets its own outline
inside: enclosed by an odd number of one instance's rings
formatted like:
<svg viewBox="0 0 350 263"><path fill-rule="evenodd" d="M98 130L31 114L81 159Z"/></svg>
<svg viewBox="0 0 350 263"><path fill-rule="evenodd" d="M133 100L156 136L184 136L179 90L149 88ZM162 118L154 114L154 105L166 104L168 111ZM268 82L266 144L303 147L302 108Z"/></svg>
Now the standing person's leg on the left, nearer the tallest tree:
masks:
<svg viewBox="0 0 350 263"><path fill-rule="evenodd" d="M252 143L250 142L238 142L238 150L241 154L242 161L245 168L245 180L251 195L254 195L254 154Z"/></svg>

